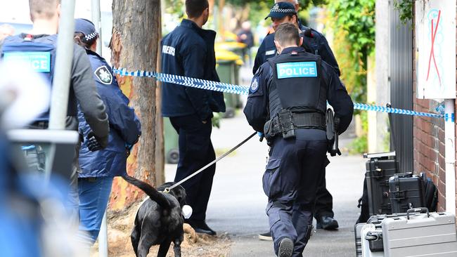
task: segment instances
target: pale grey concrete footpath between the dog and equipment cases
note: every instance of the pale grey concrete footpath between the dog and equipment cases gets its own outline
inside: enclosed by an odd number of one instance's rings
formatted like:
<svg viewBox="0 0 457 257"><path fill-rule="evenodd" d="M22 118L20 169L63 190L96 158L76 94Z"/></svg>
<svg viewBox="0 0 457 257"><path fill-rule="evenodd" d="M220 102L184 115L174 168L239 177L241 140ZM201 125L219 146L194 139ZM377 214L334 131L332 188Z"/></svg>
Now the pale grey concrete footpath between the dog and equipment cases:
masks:
<svg viewBox="0 0 457 257"><path fill-rule="evenodd" d="M252 133L242 113L223 119L221 129L214 129L212 142L217 155L237 145ZM342 140L342 144L350 140ZM236 152L217 164L212 195L207 210L207 223L219 234L233 241L229 256L274 256L273 244L257 235L266 232L266 196L262 175L268 147L252 138ZM327 169L328 190L333 195L337 231L317 230L311 237L304 256L354 256L354 222L361 196L364 160L361 157L332 157ZM167 164L167 180L173 180L176 165Z"/></svg>

